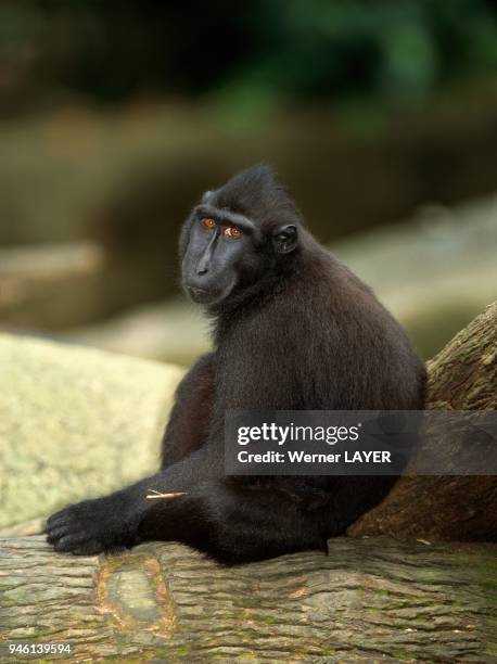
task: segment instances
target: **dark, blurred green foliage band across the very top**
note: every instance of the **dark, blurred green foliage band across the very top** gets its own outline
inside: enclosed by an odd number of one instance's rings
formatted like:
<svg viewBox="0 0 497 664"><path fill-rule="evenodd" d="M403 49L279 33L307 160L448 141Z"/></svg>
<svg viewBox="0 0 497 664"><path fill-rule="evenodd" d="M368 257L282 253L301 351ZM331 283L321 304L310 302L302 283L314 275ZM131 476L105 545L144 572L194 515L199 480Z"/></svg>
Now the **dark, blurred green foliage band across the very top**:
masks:
<svg viewBox="0 0 497 664"><path fill-rule="evenodd" d="M100 102L152 92L207 97L251 114L322 99L417 101L455 80L495 76L497 8L490 0L7 0L0 56L0 91L18 99L26 90Z"/></svg>

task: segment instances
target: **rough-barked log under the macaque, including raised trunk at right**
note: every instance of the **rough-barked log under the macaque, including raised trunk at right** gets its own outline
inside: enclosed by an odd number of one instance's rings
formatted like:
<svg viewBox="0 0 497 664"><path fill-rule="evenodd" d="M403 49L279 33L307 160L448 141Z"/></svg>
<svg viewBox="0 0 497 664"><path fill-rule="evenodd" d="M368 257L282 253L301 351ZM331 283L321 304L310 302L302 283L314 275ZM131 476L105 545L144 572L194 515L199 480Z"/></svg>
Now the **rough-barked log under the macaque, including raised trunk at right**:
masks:
<svg viewBox="0 0 497 664"><path fill-rule="evenodd" d="M493 305L430 362L430 408L495 408L496 322ZM432 544L492 538L496 497L495 477L403 477L362 538L232 569L176 544L62 556L17 529L0 539L0 661L50 643L71 662L497 661L497 546Z"/></svg>

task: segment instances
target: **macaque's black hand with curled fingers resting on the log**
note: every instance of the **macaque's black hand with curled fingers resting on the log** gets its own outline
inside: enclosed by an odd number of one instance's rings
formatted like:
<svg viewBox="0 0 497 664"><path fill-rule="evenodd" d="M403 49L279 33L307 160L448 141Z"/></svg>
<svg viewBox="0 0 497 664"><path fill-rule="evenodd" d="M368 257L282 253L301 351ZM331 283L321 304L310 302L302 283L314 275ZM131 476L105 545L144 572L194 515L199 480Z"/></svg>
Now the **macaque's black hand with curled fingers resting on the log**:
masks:
<svg viewBox="0 0 497 664"><path fill-rule="evenodd" d="M52 514L47 521L47 541L55 551L94 556L139 544L136 526L123 518L114 496L84 500Z"/></svg>

